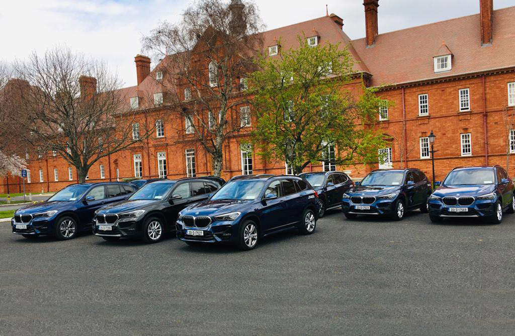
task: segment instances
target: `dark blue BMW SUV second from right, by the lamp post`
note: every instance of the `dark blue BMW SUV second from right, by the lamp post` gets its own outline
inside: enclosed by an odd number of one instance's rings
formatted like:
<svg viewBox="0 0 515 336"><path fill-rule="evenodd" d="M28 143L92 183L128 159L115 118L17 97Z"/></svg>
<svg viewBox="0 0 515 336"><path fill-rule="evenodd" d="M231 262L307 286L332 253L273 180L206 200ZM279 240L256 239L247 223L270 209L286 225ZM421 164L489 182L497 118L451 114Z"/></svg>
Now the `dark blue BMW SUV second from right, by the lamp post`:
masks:
<svg viewBox="0 0 515 336"><path fill-rule="evenodd" d="M427 212L431 182L419 169L377 169L344 194L341 209L347 218L389 215L402 220L406 211Z"/></svg>

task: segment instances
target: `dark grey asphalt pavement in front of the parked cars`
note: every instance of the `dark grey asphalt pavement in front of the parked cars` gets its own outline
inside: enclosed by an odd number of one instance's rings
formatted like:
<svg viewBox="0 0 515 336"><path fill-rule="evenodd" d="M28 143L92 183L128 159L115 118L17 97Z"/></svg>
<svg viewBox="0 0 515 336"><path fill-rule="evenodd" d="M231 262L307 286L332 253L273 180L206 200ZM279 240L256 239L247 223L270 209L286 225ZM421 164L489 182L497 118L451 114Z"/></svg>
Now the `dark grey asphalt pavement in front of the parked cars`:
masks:
<svg viewBox="0 0 515 336"><path fill-rule="evenodd" d="M253 251L0 226L0 335L513 335L515 215L347 220Z"/></svg>

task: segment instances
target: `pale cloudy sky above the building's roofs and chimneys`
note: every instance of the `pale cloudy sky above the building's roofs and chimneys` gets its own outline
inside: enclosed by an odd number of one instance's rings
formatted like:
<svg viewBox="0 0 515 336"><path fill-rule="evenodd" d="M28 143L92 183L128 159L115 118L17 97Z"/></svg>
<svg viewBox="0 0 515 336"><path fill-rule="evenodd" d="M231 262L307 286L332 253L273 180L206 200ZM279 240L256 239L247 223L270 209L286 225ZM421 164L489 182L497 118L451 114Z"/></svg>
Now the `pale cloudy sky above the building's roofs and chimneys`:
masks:
<svg viewBox="0 0 515 336"><path fill-rule="evenodd" d="M330 13L344 19L351 39L365 36L363 0L255 0L267 29ZM160 20L175 22L189 1L179 0L17 0L2 2L0 31L6 61L67 45L102 59L125 82L135 85L134 56L140 39ZM479 0L380 0L379 32L413 27L479 12ZM494 8L515 5L494 0Z"/></svg>

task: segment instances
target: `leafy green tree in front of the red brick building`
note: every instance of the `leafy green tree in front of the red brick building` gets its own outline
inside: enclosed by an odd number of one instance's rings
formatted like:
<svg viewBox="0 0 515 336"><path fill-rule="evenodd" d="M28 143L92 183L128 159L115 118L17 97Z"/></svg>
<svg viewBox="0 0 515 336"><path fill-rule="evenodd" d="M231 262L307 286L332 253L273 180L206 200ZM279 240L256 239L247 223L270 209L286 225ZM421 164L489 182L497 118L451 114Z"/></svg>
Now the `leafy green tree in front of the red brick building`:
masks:
<svg viewBox="0 0 515 336"><path fill-rule="evenodd" d="M377 162L384 135L374 120L384 100L375 89L346 86L355 73L346 47L312 47L305 37L298 40L299 48L282 51L278 58L262 58L261 70L250 76L256 120L252 142L259 155L285 161L295 174L320 161Z"/></svg>

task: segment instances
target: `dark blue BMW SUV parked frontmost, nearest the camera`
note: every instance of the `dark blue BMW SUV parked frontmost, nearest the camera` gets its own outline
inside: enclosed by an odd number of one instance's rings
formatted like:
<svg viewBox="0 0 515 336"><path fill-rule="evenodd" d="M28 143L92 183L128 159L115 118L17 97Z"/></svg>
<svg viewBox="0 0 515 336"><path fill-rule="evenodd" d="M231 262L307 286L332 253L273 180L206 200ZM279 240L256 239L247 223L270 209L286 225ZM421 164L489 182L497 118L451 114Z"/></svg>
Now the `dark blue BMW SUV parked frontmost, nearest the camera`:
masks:
<svg viewBox="0 0 515 336"><path fill-rule="evenodd" d="M253 249L261 238L297 228L312 234L317 192L297 176L247 176L179 213L177 237L189 245L233 242Z"/></svg>

